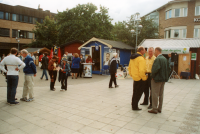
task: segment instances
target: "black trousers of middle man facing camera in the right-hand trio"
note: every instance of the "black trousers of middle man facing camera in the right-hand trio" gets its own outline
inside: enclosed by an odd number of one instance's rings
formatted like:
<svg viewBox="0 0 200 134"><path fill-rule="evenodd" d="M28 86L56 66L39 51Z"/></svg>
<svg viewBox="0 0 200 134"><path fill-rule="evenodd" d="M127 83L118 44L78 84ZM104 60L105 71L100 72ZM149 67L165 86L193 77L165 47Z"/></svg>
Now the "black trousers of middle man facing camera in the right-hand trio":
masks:
<svg viewBox="0 0 200 134"><path fill-rule="evenodd" d="M150 99L149 99L149 89L150 89ZM148 79L146 81L146 86L144 89L144 104L148 104L150 102L150 105L152 106L152 95L151 95L151 73L148 73Z"/></svg>

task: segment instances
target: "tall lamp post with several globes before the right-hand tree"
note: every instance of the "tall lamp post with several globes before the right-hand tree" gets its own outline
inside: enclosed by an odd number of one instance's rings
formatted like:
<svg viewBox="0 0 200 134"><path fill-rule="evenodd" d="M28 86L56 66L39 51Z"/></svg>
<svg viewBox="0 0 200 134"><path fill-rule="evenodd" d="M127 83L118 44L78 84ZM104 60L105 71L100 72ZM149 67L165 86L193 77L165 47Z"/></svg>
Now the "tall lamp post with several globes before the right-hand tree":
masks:
<svg viewBox="0 0 200 134"><path fill-rule="evenodd" d="M136 34L136 44L135 44L135 53L137 51L137 40L138 40L138 33L140 33L140 30L142 29L142 25L139 25L140 22L141 22L141 19L140 19L140 13L136 13L135 15L135 21L134 21L134 28L136 30L131 30L131 34L132 34L132 37L133 37L133 33Z"/></svg>

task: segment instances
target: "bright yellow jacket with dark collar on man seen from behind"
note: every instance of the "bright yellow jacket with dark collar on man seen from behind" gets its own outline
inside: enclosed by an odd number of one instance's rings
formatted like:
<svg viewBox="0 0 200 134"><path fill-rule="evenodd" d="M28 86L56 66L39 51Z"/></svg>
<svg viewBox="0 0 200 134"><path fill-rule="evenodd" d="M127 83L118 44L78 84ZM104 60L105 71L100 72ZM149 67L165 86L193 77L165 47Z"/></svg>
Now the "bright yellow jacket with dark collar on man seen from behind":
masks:
<svg viewBox="0 0 200 134"><path fill-rule="evenodd" d="M137 52L136 54L131 55L129 62L129 74L134 81L143 81L147 80L146 76L146 60L141 53Z"/></svg>

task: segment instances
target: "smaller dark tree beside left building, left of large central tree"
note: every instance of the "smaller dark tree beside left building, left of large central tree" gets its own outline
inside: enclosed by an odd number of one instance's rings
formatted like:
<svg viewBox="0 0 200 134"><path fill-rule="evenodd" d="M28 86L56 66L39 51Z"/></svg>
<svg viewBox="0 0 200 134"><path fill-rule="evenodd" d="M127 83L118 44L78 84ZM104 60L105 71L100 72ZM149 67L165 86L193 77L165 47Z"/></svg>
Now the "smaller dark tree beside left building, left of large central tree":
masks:
<svg viewBox="0 0 200 134"><path fill-rule="evenodd" d="M43 23L36 23L32 32L36 35L36 40L30 46L51 48L56 45L58 30L53 18L46 16Z"/></svg>

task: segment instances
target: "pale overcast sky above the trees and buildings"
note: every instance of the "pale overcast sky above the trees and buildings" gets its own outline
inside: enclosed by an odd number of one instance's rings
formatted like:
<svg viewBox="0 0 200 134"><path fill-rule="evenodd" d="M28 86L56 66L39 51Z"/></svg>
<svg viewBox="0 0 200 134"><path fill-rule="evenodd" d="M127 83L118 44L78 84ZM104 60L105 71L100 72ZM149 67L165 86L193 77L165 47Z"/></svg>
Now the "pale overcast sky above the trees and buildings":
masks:
<svg viewBox="0 0 200 134"><path fill-rule="evenodd" d="M76 7L78 4L93 3L98 8L105 6L109 8L109 16L113 19L112 23L118 21L127 21L128 18L135 14L140 13L140 16L161 7L168 3L170 0L0 0L0 3L12 6L21 5L37 9L50 10L50 12L57 13L64 10Z"/></svg>

